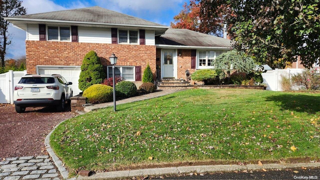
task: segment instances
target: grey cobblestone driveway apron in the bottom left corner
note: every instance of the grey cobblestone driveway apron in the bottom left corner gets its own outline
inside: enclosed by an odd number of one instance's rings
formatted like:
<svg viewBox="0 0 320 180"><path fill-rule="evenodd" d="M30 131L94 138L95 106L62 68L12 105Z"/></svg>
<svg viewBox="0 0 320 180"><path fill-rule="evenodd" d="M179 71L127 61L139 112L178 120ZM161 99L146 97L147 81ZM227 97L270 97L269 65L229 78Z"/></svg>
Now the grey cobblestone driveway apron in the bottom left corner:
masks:
<svg viewBox="0 0 320 180"><path fill-rule="evenodd" d="M47 155L5 158L0 161L0 180L58 180L59 176Z"/></svg>

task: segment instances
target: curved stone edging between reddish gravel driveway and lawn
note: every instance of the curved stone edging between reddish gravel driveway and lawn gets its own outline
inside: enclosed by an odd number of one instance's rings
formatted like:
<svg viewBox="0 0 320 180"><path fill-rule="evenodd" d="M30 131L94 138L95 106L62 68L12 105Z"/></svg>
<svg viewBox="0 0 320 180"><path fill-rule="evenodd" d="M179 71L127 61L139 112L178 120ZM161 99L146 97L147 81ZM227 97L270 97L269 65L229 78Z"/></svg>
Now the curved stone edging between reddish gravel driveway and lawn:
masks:
<svg viewBox="0 0 320 180"><path fill-rule="evenodd" d="M64 120L66 121L66 120ZM62 122L64 122L62 121ZM44 146L47 150L47 152L49 153L50 157L52 158L52 161L54 162L54 164L56 165L56 167L58 168L58 170L60 171L61 176L63 177L63 179L68 179L69 177L69 171L63 167L63 163L62 161L58 158L58 156L54 153L54 151L51 148L50 145L50 136L52 134L52 132L54 131L54 129L56 129L62 122L60 122L59 124L57 124L52 131L45 137L44 139Z"/></svg>

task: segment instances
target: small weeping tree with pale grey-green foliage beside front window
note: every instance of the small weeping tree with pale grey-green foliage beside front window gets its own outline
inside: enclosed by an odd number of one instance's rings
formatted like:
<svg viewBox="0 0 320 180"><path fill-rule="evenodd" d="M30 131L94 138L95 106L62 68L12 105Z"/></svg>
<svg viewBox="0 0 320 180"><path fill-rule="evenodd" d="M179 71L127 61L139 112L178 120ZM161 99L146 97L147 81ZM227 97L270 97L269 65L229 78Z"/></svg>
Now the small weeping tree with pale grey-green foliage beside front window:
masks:
<svg viewBox="0 0 320 180"><path fill-rule="evenodd" d="M255 67L254 60L242 51L228 51L213 59L211 66L226 71L228 82L231 71L249 73Z"/></svg>

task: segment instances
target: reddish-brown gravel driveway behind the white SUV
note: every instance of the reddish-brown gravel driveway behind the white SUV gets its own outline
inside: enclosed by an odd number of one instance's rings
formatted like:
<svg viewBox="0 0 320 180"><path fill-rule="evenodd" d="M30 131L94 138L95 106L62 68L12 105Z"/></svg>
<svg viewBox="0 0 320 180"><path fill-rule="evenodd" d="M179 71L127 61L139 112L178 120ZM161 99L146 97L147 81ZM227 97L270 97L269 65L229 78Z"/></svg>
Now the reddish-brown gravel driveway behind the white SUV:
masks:
<svg viewBox="0 0 320 180"><path fill-rule="evenodd" d="M50 107L28 107L18 114L14 105L0 104L0 158L45 154L44 137L59 122L76 115L69 111L70 106L59 113Z"/></svg>

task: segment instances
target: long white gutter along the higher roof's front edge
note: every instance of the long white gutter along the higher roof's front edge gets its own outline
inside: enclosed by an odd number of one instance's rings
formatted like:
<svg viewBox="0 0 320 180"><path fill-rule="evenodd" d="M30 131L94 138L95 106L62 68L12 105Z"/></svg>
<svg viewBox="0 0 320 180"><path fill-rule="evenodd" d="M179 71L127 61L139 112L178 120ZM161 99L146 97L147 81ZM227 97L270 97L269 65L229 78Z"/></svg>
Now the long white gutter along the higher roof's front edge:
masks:
<svg viewBox="0 0 320 180"><path fill-rule="evenodd" d="M153 28L167 28L167 29L170 28L169 26L152 26L152 25L135 25L135 24L114 24L114 23L100 23L100 22L67 21L67 20L43 20L43 19L11 18L11 17L5 17L4 19L5 19L5 20L19 20L19 21L35 21L35 22L94 24L94 25L129 26L129 27L153 27Z"/></svg>

